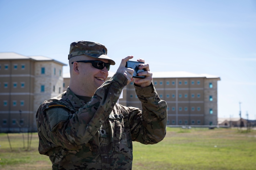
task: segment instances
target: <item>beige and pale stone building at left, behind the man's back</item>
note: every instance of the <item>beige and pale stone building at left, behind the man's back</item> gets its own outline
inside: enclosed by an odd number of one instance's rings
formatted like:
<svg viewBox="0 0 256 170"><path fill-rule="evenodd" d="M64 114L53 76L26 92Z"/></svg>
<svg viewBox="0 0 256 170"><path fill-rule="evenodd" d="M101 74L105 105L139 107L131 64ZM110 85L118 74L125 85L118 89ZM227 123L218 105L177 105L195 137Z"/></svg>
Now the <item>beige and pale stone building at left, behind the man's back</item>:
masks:
<svg viewBox="0 0 256 170"><path fill-rule="evenodd" d="M44 56L0 53L0 132L37 131L37 108L63 91L63 66Z"/></svg>

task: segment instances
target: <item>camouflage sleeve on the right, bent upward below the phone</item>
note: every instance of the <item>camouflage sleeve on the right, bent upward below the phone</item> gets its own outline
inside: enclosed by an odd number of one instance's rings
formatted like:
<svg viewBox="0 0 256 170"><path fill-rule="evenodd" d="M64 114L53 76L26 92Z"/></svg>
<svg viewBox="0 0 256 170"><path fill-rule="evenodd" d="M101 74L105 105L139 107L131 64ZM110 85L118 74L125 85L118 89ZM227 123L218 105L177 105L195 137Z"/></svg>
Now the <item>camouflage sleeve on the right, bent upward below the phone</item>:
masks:
<svg viewBox="0 0 256 170"><path fill-rule="evenodd" d="M133 141L143 144L155 144L163 140L166 134L167 104L161 100L151 86L135 86L135 92L142 104L142 111L128 107L129 123Z"/></svg>

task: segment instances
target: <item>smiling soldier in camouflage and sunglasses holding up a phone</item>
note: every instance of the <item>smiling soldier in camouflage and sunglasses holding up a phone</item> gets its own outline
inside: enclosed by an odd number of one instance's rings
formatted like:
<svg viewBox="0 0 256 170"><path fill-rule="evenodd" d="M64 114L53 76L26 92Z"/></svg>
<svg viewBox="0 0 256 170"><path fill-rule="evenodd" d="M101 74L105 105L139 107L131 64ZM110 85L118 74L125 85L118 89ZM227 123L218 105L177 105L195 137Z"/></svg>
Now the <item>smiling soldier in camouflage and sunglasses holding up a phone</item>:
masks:
<svg viewBox="0 0 256 170"><path fill-rule="evenodd" d="M36 114L38 150L49 156L52 169L132 169L132 141L163 140L167 104L156 93L147 63L139 67L146 71L138 73L145 79L132 78L133 69L125 68L132 58L122 59L106 81L110 65L115 64L106 47L90 41L70 44L70 85L44 101ZM117 103L131 81L142 110Z"/></svg>

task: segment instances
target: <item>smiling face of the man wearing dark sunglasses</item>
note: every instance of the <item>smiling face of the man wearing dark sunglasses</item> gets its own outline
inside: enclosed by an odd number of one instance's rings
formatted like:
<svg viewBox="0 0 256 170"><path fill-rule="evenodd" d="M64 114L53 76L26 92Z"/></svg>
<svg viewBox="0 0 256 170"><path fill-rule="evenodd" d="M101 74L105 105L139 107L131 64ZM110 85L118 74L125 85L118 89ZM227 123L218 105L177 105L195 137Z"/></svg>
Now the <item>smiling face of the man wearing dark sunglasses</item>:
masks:
<svg viewBox="0 0 256 170"><path fill-rule="evenodd" d="M89 56L85 56L84 60L98 60L109 63L108 60L93 58ZM97 88L99 88L106 81L109 75L108 70L106 67L104 67L102 70L97 69L92 66L92 63L79 62L79 65L81 83L88 92L88 94L90 94L90 96L93 96Z"/></svg>

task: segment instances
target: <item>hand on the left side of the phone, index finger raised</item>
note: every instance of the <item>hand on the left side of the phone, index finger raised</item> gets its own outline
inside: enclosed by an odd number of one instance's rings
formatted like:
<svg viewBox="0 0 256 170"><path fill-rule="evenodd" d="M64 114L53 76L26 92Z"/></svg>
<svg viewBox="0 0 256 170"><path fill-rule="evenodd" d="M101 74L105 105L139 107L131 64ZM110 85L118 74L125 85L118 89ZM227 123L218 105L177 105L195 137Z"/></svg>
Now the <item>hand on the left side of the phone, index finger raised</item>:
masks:
<svg viewBox="0 0 256 170"><path fill-rule="evenodd" d="M117 73L123 74L128 79L127 84L129 84L131 81L133 81L132 75L133 75L134 70L131 68L126 68L125 65L126 65L126 62L132 58L133 58L133 56L127 56L124 59L122 59L120 66L116 71Z"/></svg>

